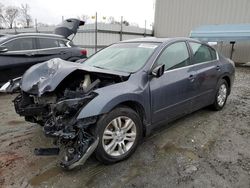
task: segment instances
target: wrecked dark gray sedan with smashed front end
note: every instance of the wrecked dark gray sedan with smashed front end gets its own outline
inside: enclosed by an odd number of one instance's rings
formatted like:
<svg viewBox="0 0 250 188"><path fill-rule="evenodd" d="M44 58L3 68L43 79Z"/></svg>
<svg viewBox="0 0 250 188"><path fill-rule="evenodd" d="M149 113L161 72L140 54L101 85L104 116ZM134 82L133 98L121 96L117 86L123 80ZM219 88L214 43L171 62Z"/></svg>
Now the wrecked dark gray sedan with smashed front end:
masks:
<svg viewBox="0 0 250 188"><path fill-rule="evenodd" d="M34 65L1 90L18 91L16 112L43 126L72 169L94 153L103 163L128 158L158 125L205 106L221 110L234 63L188 38L144 38L113 44L83 64L61 59Z"/></svg>

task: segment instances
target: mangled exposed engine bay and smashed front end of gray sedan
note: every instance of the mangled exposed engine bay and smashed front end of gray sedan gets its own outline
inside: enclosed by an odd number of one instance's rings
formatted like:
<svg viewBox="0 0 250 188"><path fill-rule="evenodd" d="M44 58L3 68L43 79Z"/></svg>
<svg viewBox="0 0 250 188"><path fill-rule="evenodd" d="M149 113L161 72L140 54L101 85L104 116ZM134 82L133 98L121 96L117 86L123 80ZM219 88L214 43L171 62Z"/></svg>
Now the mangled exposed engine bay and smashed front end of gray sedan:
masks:
<svg viewBox="0 0 250 188"><path fill-rule="evenodd" d="M98 95L95 89L124 79L127 77L77 70L69 74L53 92L46 92L54 84L49 82L49 78L47 81L32 82L32 87L26 85L30 90L22 90L13 101L16 112L25 116L26 121L43 125L45 135L53 137L56 145L56 148L37 148L35 154L63 155L61 166L66 169L84 164L99 142L99 138L92 134L98 117L78 119L78 115ZM45 85L46 82L48 85Z"/></svg>

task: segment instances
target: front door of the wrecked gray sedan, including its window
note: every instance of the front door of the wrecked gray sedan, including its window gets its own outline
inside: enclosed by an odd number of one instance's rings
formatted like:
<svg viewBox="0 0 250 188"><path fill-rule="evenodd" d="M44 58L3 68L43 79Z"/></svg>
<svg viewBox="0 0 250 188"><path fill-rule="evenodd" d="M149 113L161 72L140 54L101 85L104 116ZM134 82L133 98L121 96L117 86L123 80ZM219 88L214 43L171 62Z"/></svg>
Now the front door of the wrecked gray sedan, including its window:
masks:
<svg viewBox="0 0 250 188"><path fill-rule="evenodd" d="M190 71L190 55L185 41L166 47L155 65L165 64L165 72L150 81L152 123L170 121L190 112L195 71Z"/></svg>

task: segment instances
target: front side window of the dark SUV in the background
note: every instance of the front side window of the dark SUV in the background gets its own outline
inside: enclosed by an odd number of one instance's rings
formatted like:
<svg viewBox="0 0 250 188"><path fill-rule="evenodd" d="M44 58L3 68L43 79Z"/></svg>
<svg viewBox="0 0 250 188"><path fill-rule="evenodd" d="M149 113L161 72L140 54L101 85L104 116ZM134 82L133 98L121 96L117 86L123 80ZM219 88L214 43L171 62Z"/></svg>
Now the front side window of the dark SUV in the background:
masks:
<svg viewBox="0 0 250 188"><path fill-rule="evenodd" d="M22 51L22 50L33 50L33 38L20 38L15 39L4 44L8 48L8 51Z"/></svg>

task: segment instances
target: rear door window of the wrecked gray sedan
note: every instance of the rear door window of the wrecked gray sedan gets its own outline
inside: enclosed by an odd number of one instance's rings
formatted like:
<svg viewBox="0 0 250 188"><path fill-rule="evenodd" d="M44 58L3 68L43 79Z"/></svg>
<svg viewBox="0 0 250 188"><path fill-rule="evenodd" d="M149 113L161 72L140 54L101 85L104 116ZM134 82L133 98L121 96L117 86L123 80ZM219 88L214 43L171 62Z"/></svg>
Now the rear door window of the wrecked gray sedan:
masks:
<svg viewBox="0 0 250 188"><path fill-rule="evenodd" d="M194 63L202 63L213 60L212 55L210 53L210 48L208 46L195 42L189 42L189 43L191 49L193 50Z"/></svg>

